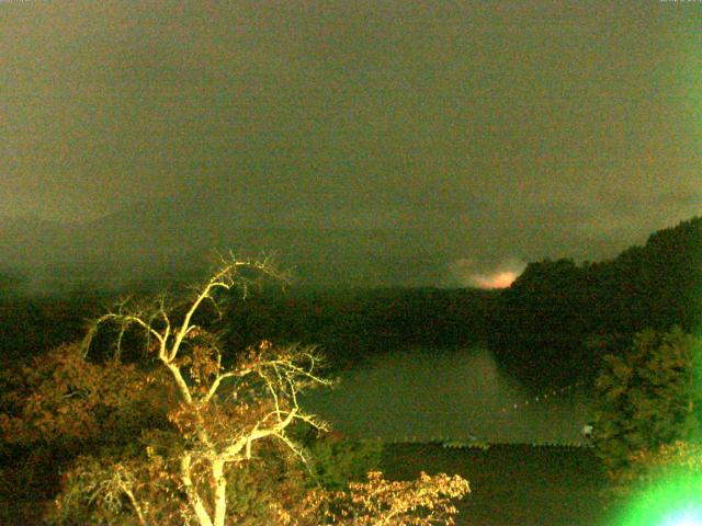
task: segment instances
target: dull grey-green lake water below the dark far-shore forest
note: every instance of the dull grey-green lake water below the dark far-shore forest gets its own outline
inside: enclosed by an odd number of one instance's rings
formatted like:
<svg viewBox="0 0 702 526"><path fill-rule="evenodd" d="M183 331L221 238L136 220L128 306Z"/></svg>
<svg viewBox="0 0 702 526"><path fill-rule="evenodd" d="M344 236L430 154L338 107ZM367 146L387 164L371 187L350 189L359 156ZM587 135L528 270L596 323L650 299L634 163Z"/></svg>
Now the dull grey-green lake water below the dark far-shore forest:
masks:
<svg viewBox="0 0 702 526"><path fill-rule="evenodd" d="M342 433L386 441L574 443L591 419L582 392L536 401L483 347L377 356L303 404Z"/></svg>

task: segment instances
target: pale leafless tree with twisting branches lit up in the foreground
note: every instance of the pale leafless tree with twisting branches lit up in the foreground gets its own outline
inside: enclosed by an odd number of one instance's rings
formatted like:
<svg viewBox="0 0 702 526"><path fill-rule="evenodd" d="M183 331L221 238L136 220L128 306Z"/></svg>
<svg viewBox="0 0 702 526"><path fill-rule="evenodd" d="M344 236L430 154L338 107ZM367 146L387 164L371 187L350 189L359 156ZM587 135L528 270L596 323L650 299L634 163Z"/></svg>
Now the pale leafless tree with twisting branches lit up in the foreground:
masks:
<svg viewBox="0 0 702 526"><path fill-rule="evenodd" d="M318 375L320 356L315 347L278 348L264 341L244 355L225 361L225 351L216 335L195 323L196 313L205 302L218 308L218 293L238 287L246 294L251 281L245 272L280 276L268 261L223 260L212 277L196 288L182 309L184 313L178 316L178 309L169 308L165 297L140 307L122 301L94 322L83 347L88 352L98 329L109 322L120 328L117 352L131 325L146 334L148 350L155 354L177 393L168 419L178 430L180 443L173 477L185 496L186 505L181 506L180 512L200 526L225 524L226 471L233 465L251 459L257 442L279 441L302 458L302 449L286 431L296 422L324 427L324 423L301 408L297 399L303 389L330 384ZM225 362L233 363L225 366ZM149 380L156 381L156 376ZM121 476L115 478L114 473ZM121 465L121 469L110 476L111 483L93 485L124 492L128 480ZM134 485L129 485L128 500L139 523L147 524L145 510L149 504L138 502Z"/></svg>

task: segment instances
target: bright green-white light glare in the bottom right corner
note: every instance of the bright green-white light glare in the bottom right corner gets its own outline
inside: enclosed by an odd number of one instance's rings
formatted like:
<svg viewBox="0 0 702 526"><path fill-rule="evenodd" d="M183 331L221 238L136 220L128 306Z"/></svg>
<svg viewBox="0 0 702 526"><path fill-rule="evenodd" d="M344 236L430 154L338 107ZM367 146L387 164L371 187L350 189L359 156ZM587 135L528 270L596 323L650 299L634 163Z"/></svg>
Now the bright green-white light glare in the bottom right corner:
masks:
<svg viewBox="0 0 702 526"><path fill-rule="evenodd" d="M702 474L666 478L635 492L613 526L702 526Z"/></svg>

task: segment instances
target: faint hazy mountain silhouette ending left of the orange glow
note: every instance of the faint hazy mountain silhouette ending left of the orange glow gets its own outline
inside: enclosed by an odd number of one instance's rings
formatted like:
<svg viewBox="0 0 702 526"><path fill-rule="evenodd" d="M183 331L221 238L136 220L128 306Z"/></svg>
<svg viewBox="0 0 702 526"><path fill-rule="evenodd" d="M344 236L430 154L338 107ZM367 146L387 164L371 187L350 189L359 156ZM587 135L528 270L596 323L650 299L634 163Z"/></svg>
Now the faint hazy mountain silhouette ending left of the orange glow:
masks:
<svg viewBox="0 0 702 526"><path fill-rule="evenodd" d="M301 284L414 286L441 279L441 253L419 229L306 226L291 215L254 195L203 194L140 203L80 225L5 219L0 265L30 267L44 282L114 285L189 276L204 270L213 250L231 249L241 256L280 256Z"/></svg>

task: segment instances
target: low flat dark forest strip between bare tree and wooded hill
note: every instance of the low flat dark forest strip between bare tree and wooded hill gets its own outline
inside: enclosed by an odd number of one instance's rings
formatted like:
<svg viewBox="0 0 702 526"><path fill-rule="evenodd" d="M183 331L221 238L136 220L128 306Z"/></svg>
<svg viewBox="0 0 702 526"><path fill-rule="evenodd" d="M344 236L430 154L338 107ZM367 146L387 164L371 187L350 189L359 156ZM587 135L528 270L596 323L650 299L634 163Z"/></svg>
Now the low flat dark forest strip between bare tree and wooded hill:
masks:
<svg viewBox="0 0 702 526"><path fill-rule="evenodd" d="M233 305L223 325L233 345L261 338L315 344L343 368L398 348L483 342L496 297L439 288L271 291Z"/></svg>

